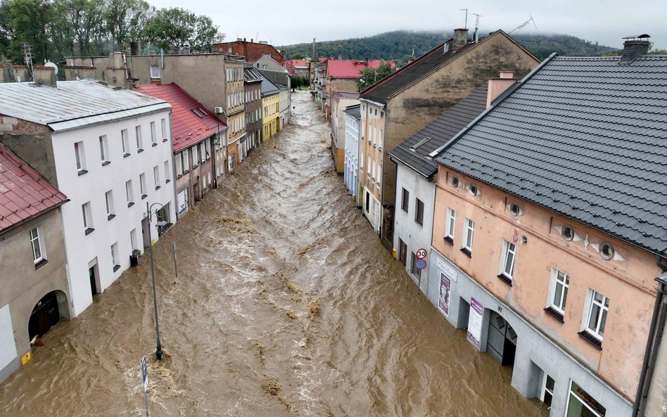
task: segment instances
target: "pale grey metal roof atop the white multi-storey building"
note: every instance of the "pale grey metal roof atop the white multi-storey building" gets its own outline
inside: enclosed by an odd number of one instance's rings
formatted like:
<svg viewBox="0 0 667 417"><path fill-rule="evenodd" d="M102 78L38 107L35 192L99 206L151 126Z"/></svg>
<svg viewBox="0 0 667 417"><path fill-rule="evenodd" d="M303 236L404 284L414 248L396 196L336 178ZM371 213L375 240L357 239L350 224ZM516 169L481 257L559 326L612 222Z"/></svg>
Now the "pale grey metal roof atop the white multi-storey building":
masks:
<svg viewBox="0 0 667 417"><path fill-rule="evenodd" d="M0 114L65 131L169 110L169 103L94 79L0 84Z"/></svg>

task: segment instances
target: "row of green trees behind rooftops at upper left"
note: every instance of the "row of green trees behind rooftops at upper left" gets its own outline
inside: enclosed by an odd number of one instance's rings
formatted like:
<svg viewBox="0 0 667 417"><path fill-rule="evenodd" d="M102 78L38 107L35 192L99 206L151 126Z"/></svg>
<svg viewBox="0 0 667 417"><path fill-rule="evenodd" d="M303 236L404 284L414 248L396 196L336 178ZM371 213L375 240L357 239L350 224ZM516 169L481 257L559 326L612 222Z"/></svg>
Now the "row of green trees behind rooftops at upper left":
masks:
<svg viewBox="0 0 667 417"><path fill-rule="evenodd" d="M0 0L0 60L23 63L65 56L129 52L129 42L159 50L189 45L210 49L224 34L211 18L184 8L157 9L144 0Z"/></svg>

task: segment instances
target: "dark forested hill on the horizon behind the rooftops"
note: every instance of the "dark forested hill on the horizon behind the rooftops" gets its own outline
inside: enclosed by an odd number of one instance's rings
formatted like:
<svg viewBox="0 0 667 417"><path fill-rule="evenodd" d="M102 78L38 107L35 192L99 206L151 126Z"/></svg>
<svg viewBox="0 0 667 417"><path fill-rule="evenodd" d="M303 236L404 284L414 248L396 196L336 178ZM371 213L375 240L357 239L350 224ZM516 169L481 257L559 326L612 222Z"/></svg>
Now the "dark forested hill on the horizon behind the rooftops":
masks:
<svg viewBox="0 0 667 417"><path fill-rule="evenodd" d="M341 56L343 59L373 58L396 60L397 62L403 60L405 62L412 55L413 47L414 56L419 57L450 37L452 34L443 32L395 30L371 37L317 42L317 56L334 58ZM600 56L602 53L616 51L608 46L599 46L597 42L585 41L565 34L513 34L512 37L540 59L547 58L552 52L557 52L561 56ZM287 58L297 54L312 55L312 44L279 46L278 49L286 51Z"/></svg>

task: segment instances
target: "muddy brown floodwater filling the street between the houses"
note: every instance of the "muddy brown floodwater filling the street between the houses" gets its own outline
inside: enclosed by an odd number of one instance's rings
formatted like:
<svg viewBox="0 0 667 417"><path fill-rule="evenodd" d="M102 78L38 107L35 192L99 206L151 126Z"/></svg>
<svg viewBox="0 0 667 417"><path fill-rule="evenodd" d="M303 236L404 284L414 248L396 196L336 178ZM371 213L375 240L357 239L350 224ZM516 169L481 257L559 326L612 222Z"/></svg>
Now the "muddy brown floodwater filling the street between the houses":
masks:
<svg viewBox="0 0 667 417"><path fill-rule="evenodd" d="M333 172L310 95L293 104L291 126L155 245L167 359L148 359L151 416L542 415L417 295ZM144 255L58 323L0 385L0 416L144 415L150 283Z"/></svg>

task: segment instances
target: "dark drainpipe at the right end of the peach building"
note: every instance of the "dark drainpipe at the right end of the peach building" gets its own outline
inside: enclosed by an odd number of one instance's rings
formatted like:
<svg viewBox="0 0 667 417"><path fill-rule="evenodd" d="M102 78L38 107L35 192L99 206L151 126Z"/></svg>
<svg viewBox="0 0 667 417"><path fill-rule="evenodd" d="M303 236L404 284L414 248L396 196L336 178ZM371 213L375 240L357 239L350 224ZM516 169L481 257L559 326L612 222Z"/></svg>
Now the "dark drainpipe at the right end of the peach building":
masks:
<svg viewBox="0 0 667 417"><path fill-rule="evenodd" d="M656 278L658 281L658 293L656 294L656 303L653 307L653 316L651 319L651 327L649 328L649 340L646 343L646 351L644 352L644 363L642 364L642 373L640 375L639 386L637 387L637 395L635 396L635 404L633 405L633 417L640 416L640 408L644 411L646 406L646 397L651 386L651 378L653 376L653 368L656 363L656 357L661 345L662 336L665 328L665 319L667 315L667 299L665 299L665 287L667 285L667 267L662 263L665 258L661 256L656 257L656 265L662 269L663 274ZM662 314L660 314L660 304L662 306ZM660 316L659 322L658 318ZM654 337L655 333L655 337ZM655 341L655 342L654 342Z"/></svg>

